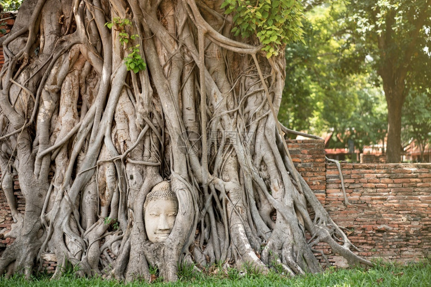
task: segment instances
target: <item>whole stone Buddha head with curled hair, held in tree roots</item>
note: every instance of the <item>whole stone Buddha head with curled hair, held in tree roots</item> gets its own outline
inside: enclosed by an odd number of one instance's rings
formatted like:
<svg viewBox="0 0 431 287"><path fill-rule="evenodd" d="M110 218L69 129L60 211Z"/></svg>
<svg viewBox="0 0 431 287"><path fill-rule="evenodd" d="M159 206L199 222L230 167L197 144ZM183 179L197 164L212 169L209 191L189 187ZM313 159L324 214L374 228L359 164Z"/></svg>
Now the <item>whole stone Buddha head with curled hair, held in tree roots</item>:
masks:
<svg viewBox="0 0 431 287"><path fill-rule="evenodd" d="M148 240L161 242L169 236L178 212L178 199L168 181L155 185L144 203L145 231Z"/></svg>

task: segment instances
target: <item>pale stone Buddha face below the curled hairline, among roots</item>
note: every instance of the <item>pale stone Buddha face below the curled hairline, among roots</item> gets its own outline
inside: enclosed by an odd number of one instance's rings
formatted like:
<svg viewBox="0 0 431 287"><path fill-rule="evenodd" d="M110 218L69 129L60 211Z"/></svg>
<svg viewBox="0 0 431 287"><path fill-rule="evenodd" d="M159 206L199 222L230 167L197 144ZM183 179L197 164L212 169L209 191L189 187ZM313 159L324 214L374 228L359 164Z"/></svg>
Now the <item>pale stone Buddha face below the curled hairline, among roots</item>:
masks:
<svg viewBox="0 0 431 287"><path fill-rule="evenodd" d="M175 217L178 212L178 203L170 198L151 199L144 211L145 231L148 240L161 242L169 236Z"/></svg>

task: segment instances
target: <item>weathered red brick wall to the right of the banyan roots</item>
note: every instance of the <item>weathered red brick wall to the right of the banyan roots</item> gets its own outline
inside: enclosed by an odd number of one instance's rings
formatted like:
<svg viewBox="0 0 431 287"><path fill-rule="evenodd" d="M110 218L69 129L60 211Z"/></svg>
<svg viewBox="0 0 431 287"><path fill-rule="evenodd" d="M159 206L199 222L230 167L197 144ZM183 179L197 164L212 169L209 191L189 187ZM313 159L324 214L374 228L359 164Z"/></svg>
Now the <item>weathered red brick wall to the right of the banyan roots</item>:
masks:
<svg viewBox="0 0 431 287"><path fill-rule="evenodd" d="M303 142L290 140L288 147L301 151ZM323 140L305 142L318 158ZM359 255L407 262L431 254L431 164L343 163L344 185L352 204L345 206L335 164L325 165L324 183L310 180L320 176L321 170L302 169L301 162L309 159L309 153L291 152L292 160L315 192L316 186L326 186L316 195L335 223L347 228L349 239L361 249ZM330 253L326 244L318 249ZM330 261L345 264L339 256L330 256Z"/></svg>

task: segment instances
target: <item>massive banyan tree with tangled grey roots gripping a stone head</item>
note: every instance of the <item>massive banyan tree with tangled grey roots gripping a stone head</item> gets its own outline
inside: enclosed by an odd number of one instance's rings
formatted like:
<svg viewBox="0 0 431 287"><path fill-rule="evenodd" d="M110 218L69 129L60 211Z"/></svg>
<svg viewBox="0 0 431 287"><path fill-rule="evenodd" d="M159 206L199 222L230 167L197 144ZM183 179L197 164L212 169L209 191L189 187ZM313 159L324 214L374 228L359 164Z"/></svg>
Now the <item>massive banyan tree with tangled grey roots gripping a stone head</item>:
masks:
<svg viewBox="0 0 431 287"><path fill-rule="evenodd" d="M3 236L16 238L0 273L29 276L54 253L120 280L220 262L294 275L322 269L319 242L370 264L296 171L277 120L301 17L294 0L25 0L0 39L15 222Z"/></svg>

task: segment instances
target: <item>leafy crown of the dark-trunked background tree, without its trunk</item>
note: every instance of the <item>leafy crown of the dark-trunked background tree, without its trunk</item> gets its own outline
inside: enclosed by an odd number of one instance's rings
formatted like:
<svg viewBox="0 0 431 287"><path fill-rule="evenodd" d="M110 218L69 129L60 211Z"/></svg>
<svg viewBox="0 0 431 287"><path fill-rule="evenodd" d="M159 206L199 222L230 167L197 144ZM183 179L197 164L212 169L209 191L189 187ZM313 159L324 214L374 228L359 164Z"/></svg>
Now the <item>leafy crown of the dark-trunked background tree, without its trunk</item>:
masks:
<svg viewBox="0 0 431 287"><path fill-rule="evenodd" d="M425 0L343 3L336 21L342 50L351 52L344 57L346 66L358 67L368 55L379 75L385 69L393 75L408 71L407 88L429 87L431 58L426 51L431 47L431 8Z"/></svg>

